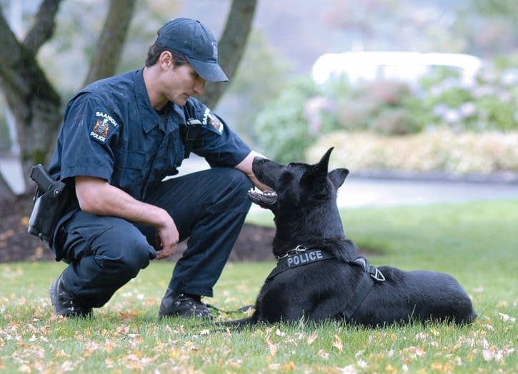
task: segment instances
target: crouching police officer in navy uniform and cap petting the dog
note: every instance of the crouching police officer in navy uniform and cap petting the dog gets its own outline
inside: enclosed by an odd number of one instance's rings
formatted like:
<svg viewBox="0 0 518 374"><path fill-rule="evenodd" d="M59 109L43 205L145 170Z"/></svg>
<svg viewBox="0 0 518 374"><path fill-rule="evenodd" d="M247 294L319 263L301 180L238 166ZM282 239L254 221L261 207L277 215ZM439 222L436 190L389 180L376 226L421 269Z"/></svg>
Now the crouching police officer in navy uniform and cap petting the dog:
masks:
<svg viewBox="0 0 518 374"><path fill-rule="evenodd" d="M251 171L258 153L192 97L206 81L228 81L214 36L199 21L173 19L159 29L144 69L96 81L69 101L49 167L76 192L49 243L69 264L50 288L56 314L91 315L189 238L159 317L211 317L201 296L213 295L241 231L246 191L266 186ZM211 168L164 180L177 173L186 146Z"/></svg>

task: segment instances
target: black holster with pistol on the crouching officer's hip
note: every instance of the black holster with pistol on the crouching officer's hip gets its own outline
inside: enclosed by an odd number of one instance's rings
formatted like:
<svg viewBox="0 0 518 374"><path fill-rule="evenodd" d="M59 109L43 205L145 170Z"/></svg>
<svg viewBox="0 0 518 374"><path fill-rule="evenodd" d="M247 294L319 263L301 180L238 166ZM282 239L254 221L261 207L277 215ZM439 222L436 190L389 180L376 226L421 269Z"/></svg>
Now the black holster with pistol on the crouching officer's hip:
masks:
<svg viewBox="0 0 518 374"><path fill-rule="evenodd" d="M71 204L74 190L61 181L55 181L41 165L33 166L30 177L38 187L28 231L49 245L59 218Z"/></svg>

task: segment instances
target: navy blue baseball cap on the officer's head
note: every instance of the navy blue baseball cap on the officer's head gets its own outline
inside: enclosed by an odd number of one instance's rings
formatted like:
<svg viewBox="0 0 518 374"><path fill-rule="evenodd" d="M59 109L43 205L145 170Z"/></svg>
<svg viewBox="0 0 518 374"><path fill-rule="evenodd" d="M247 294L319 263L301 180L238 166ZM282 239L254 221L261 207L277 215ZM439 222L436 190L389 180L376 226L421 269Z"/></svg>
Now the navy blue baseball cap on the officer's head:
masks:
<svg viewBox="0 0 518 374"><path fill-rule="evenodd" d="M218 44L214 35L196 19L176 18L158 31L156 43L184 54L196 73L209 82L228 81L218 64Z"/></svg>

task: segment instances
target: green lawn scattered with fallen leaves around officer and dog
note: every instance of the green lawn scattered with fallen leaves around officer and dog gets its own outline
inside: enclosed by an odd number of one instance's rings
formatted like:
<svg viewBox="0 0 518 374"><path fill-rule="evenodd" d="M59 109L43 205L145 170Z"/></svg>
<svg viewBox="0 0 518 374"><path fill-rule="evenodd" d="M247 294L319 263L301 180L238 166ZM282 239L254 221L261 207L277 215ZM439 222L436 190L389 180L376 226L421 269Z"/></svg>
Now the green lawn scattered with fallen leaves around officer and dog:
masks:
<svg viewBox="0 0 518 374"><path fill-rule="evenodd" d="M299 322L209 332L210 325L156 318L173 267L158 261L95 310L93 320L66 320L52 313L48 291L64 263L6 263L0 265L0 371L518 372L518 201L357 208L342 217L349 238L382 252L369 256L373 265L452 274L472 297L478 320L462 328ZM249 221L271 225L272 217ZM273 267L229 263L215 298L206 301L225 310L254 303Z"/></svg>

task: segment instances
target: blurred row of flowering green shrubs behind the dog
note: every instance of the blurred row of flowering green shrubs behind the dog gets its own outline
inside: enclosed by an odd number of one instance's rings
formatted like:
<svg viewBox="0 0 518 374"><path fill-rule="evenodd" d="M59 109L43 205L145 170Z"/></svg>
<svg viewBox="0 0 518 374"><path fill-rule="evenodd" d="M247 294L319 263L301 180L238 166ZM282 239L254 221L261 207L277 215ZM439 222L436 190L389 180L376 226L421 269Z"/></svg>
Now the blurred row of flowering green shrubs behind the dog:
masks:
<svg viewBox="0 0 518 374"><path fill-rule="evenodd" d="M416 90L390 81L352 85L347 76L321 85L299 79L256 118L257 148L291 162L304 160L309 146L337 130L385 136L442 128L454 133L518 130L517 69L485 67L471 82L452 69L434 69L419 84Z"/></svg>

